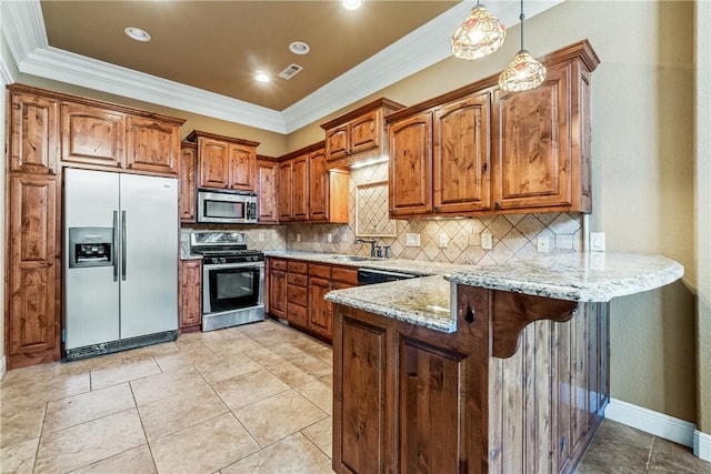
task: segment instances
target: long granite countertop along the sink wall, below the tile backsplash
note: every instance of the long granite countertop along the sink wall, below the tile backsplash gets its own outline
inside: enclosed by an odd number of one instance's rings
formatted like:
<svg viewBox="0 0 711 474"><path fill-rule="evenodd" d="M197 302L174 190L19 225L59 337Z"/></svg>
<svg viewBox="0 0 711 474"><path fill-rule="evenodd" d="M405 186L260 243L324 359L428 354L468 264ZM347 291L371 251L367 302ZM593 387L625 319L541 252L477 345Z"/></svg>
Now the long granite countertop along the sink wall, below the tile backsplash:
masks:
<svg viewBox="0 0 711 474"><path fill-rule="evenodd" d="M336 253L304 252L296 250L272 250L266 251L267 256L278 256L281 259L296 259L314 263L328 263L331 265L353 266L357 269L389 270L391 272L410 273L413 275L448 275L457 270L467 270L471 265L458 263L425 262L408 259L375 259L349 261L343 260L344 255Z"/></svg>

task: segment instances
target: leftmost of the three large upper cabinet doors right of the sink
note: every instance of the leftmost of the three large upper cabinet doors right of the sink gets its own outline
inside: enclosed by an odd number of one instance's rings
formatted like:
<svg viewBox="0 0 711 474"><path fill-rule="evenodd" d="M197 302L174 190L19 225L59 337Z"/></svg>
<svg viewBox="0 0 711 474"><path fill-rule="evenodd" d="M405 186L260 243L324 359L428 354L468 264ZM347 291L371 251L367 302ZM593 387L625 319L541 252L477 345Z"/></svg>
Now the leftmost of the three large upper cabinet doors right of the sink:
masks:
<svg viewBox="0 0 711 474"><path fill-rule="evenodd" d="M432 213L432 114L394 122L390 142L390 216Z"/></svg>

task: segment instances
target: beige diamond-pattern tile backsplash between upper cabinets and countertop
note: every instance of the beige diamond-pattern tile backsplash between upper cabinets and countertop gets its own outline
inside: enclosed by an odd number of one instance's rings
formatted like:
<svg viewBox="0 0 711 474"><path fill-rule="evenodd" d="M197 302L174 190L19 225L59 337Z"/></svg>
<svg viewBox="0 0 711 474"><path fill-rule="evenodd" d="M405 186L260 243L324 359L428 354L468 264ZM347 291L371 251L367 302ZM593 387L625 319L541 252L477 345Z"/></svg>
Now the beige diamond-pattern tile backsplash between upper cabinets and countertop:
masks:
<svg viewBox="0 0 711 474"><path fill-rule="evenodd" d="M193 229L246 232L248 248L256 250L301 250L310 252L368 255L369 244L356 244L356 193L358 186L388 180L388 164L365 167L351 172L349 180L348 224L220 225L193 224L182 228L182 240ZM387 199L384 196L383 199ZM388 221L387 205L381 206L382 222L368 215L369 226L392 229L394 236L377 236L378 245L389 245L391 258L463 264L503 263L511 259L540 256L537 239L548 238L549 251L580 252L582 214L500 214L472 219L421 219ZM491 250L481 248L481 235L493 238ZM419 234L420 245L408 246L407 235ZM440 246L447 234L447 246ZM184 244L183 244L184 245Z"/></svg>

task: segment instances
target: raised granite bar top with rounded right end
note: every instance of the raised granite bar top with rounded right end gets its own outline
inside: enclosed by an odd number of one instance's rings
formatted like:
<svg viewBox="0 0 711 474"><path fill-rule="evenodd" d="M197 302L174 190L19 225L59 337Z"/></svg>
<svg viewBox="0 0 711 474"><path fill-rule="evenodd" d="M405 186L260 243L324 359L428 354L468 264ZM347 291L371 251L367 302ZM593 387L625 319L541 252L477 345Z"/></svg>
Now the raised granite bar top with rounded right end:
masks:
<svg viewBox="0 0 711 474"><path fill-rule="evenodd" d="M452 283L547 296L605 302L679 280L684 269L662 255L570 253L454 271Z"/></svg>

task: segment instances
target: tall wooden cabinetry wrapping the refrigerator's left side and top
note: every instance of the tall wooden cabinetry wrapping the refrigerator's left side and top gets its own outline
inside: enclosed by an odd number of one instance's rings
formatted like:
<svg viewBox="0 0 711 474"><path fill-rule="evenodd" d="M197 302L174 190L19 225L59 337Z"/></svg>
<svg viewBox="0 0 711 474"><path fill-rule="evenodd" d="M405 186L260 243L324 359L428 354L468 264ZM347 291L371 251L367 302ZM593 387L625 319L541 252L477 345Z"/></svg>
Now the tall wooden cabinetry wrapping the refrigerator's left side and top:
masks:
<svg viewBox="0 0 711 474"><path fill-rule="evenodd" d="M183 120L21 84L8 91L4 346L17 369L61 356L62 169L176 177Z"/></svg>

